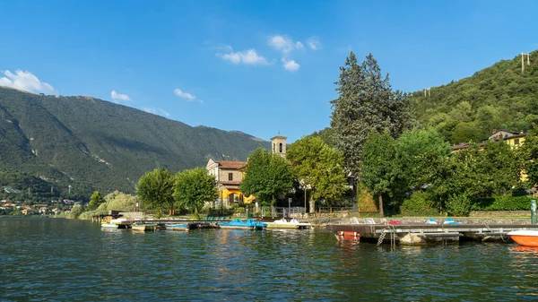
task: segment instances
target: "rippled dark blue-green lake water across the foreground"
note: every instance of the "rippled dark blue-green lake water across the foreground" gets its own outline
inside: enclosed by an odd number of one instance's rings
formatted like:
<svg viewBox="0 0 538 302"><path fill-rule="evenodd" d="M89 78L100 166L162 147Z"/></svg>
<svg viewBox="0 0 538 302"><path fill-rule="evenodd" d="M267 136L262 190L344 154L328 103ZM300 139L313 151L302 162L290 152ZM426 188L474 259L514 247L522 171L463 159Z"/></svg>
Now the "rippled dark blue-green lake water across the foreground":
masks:
<svg viewBox="0 0 538 302"><path fill-rule="evenodd" d="M522 301L538 253L515 244L379 246L324 230L139 233L0 219L0 300Z"/></svg>

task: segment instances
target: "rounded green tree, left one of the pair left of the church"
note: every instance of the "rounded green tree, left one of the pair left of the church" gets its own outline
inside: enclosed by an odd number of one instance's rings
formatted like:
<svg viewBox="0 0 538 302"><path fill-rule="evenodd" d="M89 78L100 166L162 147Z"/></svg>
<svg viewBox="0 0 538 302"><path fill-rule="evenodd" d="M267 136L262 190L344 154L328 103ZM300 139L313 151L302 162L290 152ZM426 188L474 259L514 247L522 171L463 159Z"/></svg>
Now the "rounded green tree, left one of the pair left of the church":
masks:
<svg viewBox="0 0 538 302"><path fill-rule="evenodd" d="M171 210L174 207L175 176L166 168L156 168L140 177L136 185L136 198L144 206L158 208L165 206Z"/></svg>

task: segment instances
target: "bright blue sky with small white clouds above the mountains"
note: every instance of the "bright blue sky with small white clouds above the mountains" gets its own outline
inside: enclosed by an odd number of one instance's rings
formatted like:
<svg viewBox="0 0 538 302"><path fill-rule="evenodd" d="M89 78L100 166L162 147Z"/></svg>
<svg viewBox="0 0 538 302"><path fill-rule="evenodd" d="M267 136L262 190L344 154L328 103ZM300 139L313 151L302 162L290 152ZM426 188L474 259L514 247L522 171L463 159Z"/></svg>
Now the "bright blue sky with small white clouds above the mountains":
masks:
<svg viewBox="0 0 538 302"><path fill-rule="evenodd" d="M351 50L417 91L537 49L536 12L538 1L0 0L0 85L293 142L329 125Z"/></svg>

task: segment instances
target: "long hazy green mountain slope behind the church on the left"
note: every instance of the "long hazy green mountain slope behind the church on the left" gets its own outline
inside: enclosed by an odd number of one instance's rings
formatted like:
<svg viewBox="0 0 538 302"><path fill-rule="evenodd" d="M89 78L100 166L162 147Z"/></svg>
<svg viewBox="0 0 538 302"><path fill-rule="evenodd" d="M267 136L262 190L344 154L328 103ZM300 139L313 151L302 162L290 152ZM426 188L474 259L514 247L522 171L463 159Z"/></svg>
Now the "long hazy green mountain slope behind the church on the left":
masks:
<svg viewBox="0 0 538 302"><path fill-rule="evenodd" d="M0 189L10 185L5 179L13 177L7 176L23 174L62 192L72 186L72 194L133 193L139 177L153 168L176 172L204 166L210 157L247 160L257 147L270 143L102 99L0 87Z"/></svg>

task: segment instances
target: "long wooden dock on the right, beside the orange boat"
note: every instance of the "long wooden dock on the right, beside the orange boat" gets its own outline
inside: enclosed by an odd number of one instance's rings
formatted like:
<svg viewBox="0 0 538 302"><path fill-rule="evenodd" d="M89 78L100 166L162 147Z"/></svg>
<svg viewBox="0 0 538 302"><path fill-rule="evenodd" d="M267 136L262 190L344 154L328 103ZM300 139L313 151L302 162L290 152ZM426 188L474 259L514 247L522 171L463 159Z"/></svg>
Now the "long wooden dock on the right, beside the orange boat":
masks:
<svg viewBox="0 0 538 302"><path fill-rule="evenodd" d="M326 229L336 232L357 232L360 241L420 245L459 241L512 242L508 232L535 229L532 224L329 224Z"/></svg>

